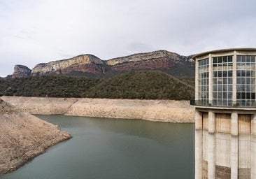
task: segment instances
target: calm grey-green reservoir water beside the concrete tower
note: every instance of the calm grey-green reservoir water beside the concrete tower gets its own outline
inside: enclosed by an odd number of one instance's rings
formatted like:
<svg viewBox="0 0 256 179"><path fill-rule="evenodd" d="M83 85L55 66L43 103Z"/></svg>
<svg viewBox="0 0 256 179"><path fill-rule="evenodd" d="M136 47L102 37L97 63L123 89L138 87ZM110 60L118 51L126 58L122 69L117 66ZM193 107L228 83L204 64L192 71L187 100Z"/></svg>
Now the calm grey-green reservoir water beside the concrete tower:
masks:
<svg viewBox="0 0 256 179"><path fill-rule="evenodd" d="M37 115L73 138L1 179L194 178L194 124Z"/></svg>

